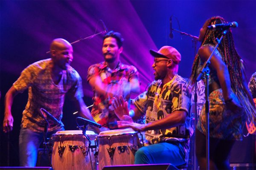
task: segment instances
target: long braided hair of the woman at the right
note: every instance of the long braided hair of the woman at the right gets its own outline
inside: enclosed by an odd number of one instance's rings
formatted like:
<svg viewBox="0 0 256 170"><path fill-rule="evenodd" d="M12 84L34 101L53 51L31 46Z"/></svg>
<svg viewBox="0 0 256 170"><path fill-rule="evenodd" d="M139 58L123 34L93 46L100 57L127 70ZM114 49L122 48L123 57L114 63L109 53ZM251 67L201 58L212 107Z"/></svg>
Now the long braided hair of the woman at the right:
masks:
<svg viewBox="0 0 256 170"><path fill-rule="evenodd" d="M223 23L227 23L227 21L224 20L223 17L215 16L215 17L209 18L204 23L203 28L210 26L210 25L223 24ZM201 46L207 45L207 44L215 46L218 43L216 38L219 39L221 37L221 35L222 35L221 30L207 29ZM246 92L244 91L244 87L242 84L242 82L243 82L242 70L244 68L243 68L241 57L239 56L238 52L236 51L231 29L227 30L227 34L224 35L224 37L217 49L221 54L222 60L224 61L224 63L227 66L227 69L229 71L229 76L230 76L231 88L233 89L234 93L240 100L240 103L246 112L247 121L252 121L253 115L256 116L255 115L256 113L255 113L253 106L249 102ZM195 84L199 65L200 65L200 57L197 54L194 59L193 65L192 65L192 73L188 80L189 84L191 84L191 85Z"/></svg>

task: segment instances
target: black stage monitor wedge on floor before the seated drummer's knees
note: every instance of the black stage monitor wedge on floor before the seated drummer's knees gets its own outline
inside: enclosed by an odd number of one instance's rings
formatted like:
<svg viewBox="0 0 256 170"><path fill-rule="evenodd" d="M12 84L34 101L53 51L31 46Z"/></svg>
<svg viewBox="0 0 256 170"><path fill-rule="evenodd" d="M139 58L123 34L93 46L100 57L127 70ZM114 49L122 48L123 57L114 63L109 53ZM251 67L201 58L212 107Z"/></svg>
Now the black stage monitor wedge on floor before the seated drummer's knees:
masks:
<svg viewBox="0 0 256 170"><path fill-rule="evenodd" d="M178 170L172 164L131 164L105 166L102 170Z"/></svg>

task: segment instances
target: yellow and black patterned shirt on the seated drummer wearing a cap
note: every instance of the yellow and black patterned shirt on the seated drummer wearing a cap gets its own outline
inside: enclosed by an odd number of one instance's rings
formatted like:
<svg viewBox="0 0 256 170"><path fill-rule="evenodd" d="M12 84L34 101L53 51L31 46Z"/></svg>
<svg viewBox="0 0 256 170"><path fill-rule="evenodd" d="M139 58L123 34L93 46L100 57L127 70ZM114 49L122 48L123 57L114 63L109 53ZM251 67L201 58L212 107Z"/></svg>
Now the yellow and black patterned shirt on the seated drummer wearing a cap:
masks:
<svg viewBox="0 0 256 170"><path fill-rule="evenodd" d="M146 139L151 143L180 142L185 150L185 160L189 156L191 94L185 87L186 80L175 75L165 85L161 80L154 81L148 91L137 96L134 105L141 113L146 113L146 123L154 122L172 114L174 111L186 111L188 116L184 125L159 130L147 130ZM163 90L162 90L163 89Z"/></svg>

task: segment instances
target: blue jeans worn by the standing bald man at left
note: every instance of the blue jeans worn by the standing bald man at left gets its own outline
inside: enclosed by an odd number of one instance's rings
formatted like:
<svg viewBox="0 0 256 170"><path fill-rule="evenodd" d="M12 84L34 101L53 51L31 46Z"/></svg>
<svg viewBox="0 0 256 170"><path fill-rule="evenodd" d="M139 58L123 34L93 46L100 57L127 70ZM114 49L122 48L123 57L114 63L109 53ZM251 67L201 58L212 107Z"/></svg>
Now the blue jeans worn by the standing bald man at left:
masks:
<svg viewBox="0 0 256 170"><path fill-rule="evenodd" d="M59 131L59 130L56 130ZM52 131L47 133L47 137L56 133ZM35 167L38 155L38 148L44 140L44 133L34 132L29 129L20 129L19 136L19 157L20 166L22 167Z"/></svg>

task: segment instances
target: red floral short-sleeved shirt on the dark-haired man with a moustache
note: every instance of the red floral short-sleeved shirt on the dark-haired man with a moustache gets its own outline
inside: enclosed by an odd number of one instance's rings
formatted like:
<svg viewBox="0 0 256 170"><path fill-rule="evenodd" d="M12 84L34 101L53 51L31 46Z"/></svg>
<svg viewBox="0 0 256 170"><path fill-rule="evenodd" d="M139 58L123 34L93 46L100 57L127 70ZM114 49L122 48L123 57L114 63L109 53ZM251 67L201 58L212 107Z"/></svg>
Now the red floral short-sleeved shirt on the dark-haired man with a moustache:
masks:
<svg viewBox="0 0 256 170"><path fill-rule="evenodd" d="M127 96L126 101L130 98L130 94L123 94L123 86L131 79L139 79L137 68L132 65L125 65L119 62L116 69L111 70L106 62L91 65L88 69L87 82L94 76L100 76L102 82L108 85L108 91L115 94ZM109 127L109 123L118 120L111 106L112 99L104 95L99 95L93 89L93 108L91 115L95 122L102 127Z"/></svg>

